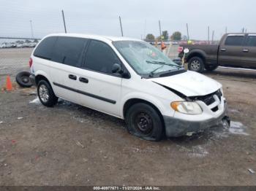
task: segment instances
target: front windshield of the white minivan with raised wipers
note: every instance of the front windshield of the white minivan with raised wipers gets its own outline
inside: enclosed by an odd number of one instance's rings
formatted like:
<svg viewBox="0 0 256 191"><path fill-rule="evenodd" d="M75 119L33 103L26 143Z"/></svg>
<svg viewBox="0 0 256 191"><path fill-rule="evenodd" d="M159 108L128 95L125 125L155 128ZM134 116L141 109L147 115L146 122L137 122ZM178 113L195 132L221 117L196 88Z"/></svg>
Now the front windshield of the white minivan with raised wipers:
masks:
<svg viewBox="0 0 256 191"><path fill-rule="evenodd" d="M181 69L181 66L147 42L116 41L113 44L140 75L153 77L155 74Z"/></svg>

